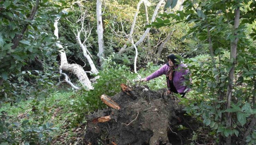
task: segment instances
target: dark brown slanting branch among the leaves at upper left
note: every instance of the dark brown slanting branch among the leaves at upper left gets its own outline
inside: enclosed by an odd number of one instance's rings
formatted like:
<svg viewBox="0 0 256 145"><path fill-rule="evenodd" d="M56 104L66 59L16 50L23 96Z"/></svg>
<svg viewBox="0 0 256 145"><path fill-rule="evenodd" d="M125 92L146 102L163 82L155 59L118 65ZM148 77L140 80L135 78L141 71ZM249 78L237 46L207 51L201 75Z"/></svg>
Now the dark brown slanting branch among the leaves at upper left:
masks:
<svg viewBox="0 0 256 145"><path fill-rule="evenodd" d="M28 20L33 20L35 14L36 14L38 4L39 4L39 0L36 0L36 4L35 4L35 6L32 7L32 10L31 10L30 15L28 17ZM19 41L21 40L21 38L22 38L23 34L25 33L27 27L28 27L28 23L22 28L20 34L15 35L14 39L12 40L13 45L11 46L11 49L15 49L18 46Z"/></svg>

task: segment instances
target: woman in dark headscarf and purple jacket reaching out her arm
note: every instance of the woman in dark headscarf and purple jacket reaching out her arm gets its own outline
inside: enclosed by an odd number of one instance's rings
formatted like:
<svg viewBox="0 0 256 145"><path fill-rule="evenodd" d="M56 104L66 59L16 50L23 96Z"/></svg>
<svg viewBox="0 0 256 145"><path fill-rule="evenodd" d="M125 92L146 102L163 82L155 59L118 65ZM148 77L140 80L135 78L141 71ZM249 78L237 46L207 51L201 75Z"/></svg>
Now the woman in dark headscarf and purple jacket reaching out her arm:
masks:
<svg viewBox="0 0 256 145"><path fill-rule="evenodd" d="M186 69L184 64L177 63L177 57L174 54L167 56L168 62L155 71L153 74L149 75L146 78L141 79L141 81L148 81L150 79L159 77L163 74L166 75L168 94L176 93L181 94L182 97L185 96L186 92L191 89L186 89L186 86L183 86L183 81L185 80L184 75L188 74L189 70ZM176 59L176 60L175 60ZM191 78L190 82L191 82ZM186 92L184 92L186 90Z"/></svg>

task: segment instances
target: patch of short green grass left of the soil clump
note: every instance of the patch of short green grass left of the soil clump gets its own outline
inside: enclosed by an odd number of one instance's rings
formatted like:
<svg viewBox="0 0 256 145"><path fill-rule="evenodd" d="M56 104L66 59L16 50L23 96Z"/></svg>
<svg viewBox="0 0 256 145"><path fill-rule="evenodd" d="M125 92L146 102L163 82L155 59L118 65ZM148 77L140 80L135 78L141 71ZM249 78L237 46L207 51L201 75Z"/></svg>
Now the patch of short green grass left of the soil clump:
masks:
<svg viewBox="0 0 256 145"><path fill-rule="evenodd" d="M21 101L17 106L11 106L10 103L4 104L1 106L0 112L6 112L10 117L9 122L21 123L24 120L29 120L30 124L53 123L52 127L58 128L50 134L53 136L53 140L62 136L63 133L68 133L66 138L70 138L75 135L72 133L70 125L72 117L76 116L76 113L71 109L71 101L75 97L75 92L61 90L56 93L51 93L46 99L39 101ZM32 111L33 106L36 107L37 113ZM38 119L37 122L35 122L36 119ZM44 120L44 122L42 122L42 120ZM56 144L58 143L56 142Z"/></svg>

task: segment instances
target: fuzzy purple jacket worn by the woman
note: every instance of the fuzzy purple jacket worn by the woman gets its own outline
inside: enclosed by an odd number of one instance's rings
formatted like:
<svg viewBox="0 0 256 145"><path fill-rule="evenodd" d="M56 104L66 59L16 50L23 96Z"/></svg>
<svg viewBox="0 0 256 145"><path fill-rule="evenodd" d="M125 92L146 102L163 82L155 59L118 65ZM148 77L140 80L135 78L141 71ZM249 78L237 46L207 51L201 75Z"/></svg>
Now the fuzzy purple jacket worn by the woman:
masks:
<svg viewBox="0 0 256 145"><path fill-rule="evenodd" d="M178 67L180 67L180 68L178 68ZM183 80L184 80L183 75L188 74L189 70L184 69L184 68L186 68L186 65L184 65L184 64L180 64L178 67L174 67L176 71L175 71L174 78L173 78L173 85L176 88L176 90L178 91L178 93L184 93L184 91L186 89L186 86L183 86ZM168 71L168 68L169 68L169 66L167 66L166 64L163 65L161 68L159 68L153 74L146 77L147 81L150 80L150 79L159 77L163 74L166 75L166 73ZM191 82L191 78L190 78L190 82ZM191 89L189 88L186 92L188 92L190 90Z"/></svg>

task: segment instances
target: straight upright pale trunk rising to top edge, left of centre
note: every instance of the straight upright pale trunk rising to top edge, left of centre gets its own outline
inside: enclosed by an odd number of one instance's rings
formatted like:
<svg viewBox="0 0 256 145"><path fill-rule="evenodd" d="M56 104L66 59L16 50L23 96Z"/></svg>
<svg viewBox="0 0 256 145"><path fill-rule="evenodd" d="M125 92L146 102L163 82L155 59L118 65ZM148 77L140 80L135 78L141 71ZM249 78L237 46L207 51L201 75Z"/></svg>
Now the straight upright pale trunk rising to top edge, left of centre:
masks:
<svg viewBox="0 0 256 145"><path fill-rule="evenodd" d="M97 34L98 34L98 45L99 45L99 53L97 54L97 56L100 58L100 64L102 66L103 59L104 59L104 42L103 42L101 5L102 5L102 0L97 0L96 13L97 13Z"/></svg>

